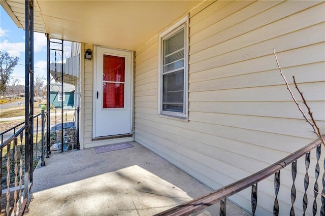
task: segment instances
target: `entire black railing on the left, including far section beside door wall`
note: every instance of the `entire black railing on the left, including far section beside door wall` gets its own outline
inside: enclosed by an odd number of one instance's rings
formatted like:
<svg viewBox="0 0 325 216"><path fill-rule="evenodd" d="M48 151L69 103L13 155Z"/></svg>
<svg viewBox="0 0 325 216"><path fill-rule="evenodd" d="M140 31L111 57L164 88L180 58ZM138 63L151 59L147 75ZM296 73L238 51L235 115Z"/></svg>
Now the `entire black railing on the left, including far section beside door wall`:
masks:
<svg viewBox="0 0 325 216"><path fill-rule="evenodd" d="M28 133L28 125L25 122L0 133L0 214L17 215L24 211L26 204L28 206L31 197L29 192L32 187L32 171L39 161L41 166L45 166L45 157L51 154L50 146L53 143L60 143L61 148L70 145L72 149L80 150L79 108L64 110L63 117L56 115L55 110L52 110L51 114L50 118L48 112L42 111L32 118L32 134L34 134L32 148L26 148L25 133ZM61 119L63 119L62 123L59 121ZM52 124L48 123L48 120L51 120ZM48 127L48 125L52 126ZM63 140L57 139L59 133L63 134ZM54 134L54 137L51 134ZM29 152L25 154L26 149ZM25 178L27 173L29 177ZM28 183L25 183L26 179ZM27 185L28 193L24 193Z"/></svg>

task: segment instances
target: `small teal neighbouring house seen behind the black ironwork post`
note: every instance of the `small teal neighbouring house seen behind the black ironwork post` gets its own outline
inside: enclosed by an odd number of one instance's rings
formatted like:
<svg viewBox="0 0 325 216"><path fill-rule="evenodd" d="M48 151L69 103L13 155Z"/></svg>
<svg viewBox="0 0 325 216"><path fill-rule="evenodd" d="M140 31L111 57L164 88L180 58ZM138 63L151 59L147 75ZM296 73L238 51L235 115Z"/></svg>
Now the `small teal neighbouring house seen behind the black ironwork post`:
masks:
<svg viewBox="0 0 325 216"><path fill-rule="evenodd" d="M63 96L61 83L51 83L50 85L50 104L55 108L74 109L75 107L75 86L63 83Z"/></svg>

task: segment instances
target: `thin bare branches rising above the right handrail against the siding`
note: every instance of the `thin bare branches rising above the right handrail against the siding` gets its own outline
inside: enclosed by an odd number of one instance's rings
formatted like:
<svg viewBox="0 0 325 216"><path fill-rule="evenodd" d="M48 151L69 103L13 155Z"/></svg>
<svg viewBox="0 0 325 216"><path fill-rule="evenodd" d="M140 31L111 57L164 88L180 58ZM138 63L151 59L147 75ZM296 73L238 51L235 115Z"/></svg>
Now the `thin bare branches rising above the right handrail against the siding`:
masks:
<svg viewBox="0 0 325 216"><path fill-rule="evenodd" d="M283 75L283 73L282 73L282 69L281 69L281 67L280 67L280 64L279 64L279 61L278 61L278 57L277 57L276 54L275 54L275 49L273 49L273 54L274 54L274 56L275 56L276 63L277 63L278 68L279 68L279 70L280 70L280 74L281 74L281 76L282 76L282 78L283 78L283 80L284 80L284 82L285 82L286 88L288 89L288 91L290 92L291 97L294 99L296 105L298 106L298 110L302 113L304 119L305 119L305 120L306 120L306 121L311 125L311 127L313 128L313 131L312 131L312 132L315 133L315 134L318 136L318 138L321 140L323 146L325 147L325 140L323 139L323 137L322 137L322 135L321 135L321 133L320 133L320 130L319 130L319 128L318 128L318 126L317 126L317 124L316 124L316 122L315 122L315 120L314 120L314 117L313 117L313 115L312 115L312 112L310 111L310 107L308 106L308 104L307 104L307 102L306 102L306 100L305 100L305 97L303 96L303 93L299 90L299 88L298 88L298 86L297 86L297 83L296 83L295 77L293 76L295 87L296 87L296 89L298 90L298 92L299 92L299 94L300 94L300 96L301 96L301 98L302 98L302 100L303 100L303 103L304 103L305 106L307 107L308 115L309 115L311 121L306 117L305 112L302 110L300 104L298 103L298 101L297 101L296 98L295 98L294 93L291 91L291 89L290 89L290 87L289 87L289 84L288 84L288 82L286 81L286 79L285 79L285 77L284 77L284 75Z"/></svg>

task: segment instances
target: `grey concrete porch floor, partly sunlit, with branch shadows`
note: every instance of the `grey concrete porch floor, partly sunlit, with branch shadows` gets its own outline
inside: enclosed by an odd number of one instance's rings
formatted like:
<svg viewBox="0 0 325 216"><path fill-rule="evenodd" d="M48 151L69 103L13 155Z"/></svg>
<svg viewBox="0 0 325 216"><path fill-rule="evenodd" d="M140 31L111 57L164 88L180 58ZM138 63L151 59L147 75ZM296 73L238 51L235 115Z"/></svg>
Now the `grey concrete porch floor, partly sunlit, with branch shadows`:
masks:
<svg viewBox="0 0 325 216"><path fill-rule="evenodd" d="M153 215L211 191L137 142L96 154L52 153L34 171L27 215ZM227 202L228 215L250 215ZM197 213L218 215L219 204Z"/></svg>

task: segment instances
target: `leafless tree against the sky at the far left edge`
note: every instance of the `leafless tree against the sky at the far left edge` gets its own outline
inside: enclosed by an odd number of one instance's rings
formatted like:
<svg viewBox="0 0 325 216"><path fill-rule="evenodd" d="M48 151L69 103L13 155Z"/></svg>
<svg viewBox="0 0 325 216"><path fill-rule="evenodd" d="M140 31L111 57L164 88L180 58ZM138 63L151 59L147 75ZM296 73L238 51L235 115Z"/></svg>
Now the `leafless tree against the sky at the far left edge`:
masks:
<svg viewBox="0 0 325 216"><path fill-rule="evenodd" d="M0 51L0 95L4 95L10 76L17 65L19 57L12 57L7 52Z"/></svg>

